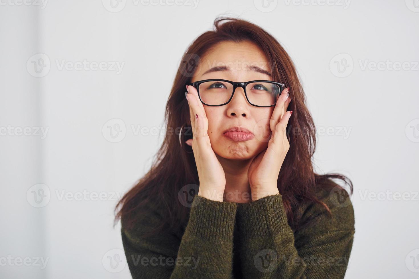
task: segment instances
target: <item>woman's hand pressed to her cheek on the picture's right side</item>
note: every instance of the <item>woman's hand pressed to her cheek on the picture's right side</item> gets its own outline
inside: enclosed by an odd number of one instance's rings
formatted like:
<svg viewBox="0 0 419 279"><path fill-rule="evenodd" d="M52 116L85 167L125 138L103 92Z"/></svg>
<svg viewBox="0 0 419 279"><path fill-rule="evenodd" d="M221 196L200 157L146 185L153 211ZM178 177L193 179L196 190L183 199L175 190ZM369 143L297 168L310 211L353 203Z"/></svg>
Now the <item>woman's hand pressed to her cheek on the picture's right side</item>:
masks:
<svg viewBox="0 0 419 279"><path fill-rule="evenodd" d="M284 89L279 95L269 121L272 135L268 147L253 158L248 169L252 200L279 194L277 186L279 170L290 149L286 129L292 111L287 111L291 102L288 96L289 88Z"/></svg>

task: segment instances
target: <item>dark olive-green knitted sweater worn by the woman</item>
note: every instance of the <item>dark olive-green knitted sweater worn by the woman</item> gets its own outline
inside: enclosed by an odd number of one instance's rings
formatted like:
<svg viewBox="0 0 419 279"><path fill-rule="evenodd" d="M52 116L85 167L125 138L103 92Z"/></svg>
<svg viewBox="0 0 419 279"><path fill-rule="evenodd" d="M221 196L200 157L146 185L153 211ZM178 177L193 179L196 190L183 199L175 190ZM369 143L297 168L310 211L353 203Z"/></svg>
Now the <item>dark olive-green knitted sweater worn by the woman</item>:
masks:
<svg viewBox="0 0 419 279"><path fill-rule="evenodd" d="M249 203L194 196L186 228L142 237L162 218L152 205L134 228L122 224L129 270L137 278L344 278L354 239L349 198L323 190L318 204L298 210L288 225L282 195Z"/></svg>

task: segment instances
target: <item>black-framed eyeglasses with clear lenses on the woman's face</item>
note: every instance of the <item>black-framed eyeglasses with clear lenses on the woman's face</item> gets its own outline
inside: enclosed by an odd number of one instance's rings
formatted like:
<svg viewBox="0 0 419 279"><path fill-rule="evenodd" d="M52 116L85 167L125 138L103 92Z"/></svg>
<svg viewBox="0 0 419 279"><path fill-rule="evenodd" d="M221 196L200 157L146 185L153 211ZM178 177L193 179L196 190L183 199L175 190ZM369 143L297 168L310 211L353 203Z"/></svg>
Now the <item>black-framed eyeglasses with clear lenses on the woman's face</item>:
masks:
<svg viewBox="0 0 419 279"><path fill-rule="evenodd" d="M285 84L270 80L232 82L227 79L203 79L187 83L197 89L199 100L204 105L226 105L233 99L235 89L241 87L247 101L255 107L272 107L277 103Z"/></svg>

